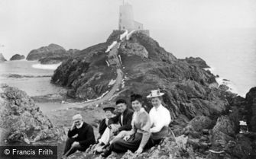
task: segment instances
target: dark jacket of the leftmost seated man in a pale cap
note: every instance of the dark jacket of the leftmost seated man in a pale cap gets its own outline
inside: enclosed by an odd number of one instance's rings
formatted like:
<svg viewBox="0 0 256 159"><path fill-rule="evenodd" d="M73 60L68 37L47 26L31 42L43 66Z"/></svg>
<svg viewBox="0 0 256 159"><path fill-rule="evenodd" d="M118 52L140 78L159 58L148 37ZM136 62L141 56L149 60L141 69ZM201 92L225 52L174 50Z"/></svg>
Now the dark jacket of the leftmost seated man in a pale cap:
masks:
<svg viewBox="0 0 256 159"><path fill-rule="evenodd" d="M77 129L75 127L75 129L69 130L69 132L67 132L67 136L69 138L72 138L72 136L76 134L78 134L78 136L74 139L76 142L79 142L79 145L87 146L96 143L93 128L86 122L83 122L83 126L81 128Z"/></svg>

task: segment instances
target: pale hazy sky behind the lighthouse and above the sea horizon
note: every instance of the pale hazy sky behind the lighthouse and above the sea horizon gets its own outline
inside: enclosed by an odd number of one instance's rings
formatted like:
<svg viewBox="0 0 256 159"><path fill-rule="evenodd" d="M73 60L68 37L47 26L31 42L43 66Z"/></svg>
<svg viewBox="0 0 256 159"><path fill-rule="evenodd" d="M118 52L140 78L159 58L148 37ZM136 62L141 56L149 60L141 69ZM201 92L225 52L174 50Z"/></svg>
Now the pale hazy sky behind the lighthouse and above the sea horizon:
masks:
<svg viewBox="0 0 256 159"><path fill-rule="evenodd" d="M128 0L134 18L163 42L177 30L196 33L256 27L254 0ZM0 52L16 53L56 43L86 49L118 28L122 0L0 0Z"/></svg>

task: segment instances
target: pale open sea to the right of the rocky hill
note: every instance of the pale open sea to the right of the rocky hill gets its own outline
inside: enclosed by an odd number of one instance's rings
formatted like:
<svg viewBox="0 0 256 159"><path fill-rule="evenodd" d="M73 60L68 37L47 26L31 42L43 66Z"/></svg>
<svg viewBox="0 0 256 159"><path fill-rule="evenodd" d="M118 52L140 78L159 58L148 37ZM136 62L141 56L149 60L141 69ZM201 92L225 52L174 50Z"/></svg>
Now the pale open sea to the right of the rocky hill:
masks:
<svg viewBox="0 0 256 159"><path fill-rule="evenodd" d="M201 57L211 67L222 83L245 97L251 87L256 87L256 28L251 29L173 29L162 33L156 30L152 37L160 46L177 58Z"/></svg>

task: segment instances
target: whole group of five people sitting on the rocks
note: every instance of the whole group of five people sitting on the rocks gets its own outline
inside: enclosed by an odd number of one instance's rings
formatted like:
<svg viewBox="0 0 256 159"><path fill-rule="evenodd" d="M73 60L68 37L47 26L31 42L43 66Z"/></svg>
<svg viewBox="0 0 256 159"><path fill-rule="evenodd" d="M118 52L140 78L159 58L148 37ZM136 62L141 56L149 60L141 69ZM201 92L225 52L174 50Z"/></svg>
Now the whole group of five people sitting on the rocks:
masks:
<svg viewBox="0 0 256 159"><path fill-rule="evenodd" d="M94 151L108 157L112 151L133 151L141 154L147 148L160 143L169 133L170 112L162 105L164 93L151 91L147 96L154 107L147 113L144 110L143 97L131 95L131 107L123 99L116 100L115 107L104 107L105 119L99 124L99 138L93 133L92 126L83 122L81 115L73 116L73 126L68 132L64 156L76 151L86 151L89 145L97 143ZM115 115L114 110L118 112Z"/></svg>

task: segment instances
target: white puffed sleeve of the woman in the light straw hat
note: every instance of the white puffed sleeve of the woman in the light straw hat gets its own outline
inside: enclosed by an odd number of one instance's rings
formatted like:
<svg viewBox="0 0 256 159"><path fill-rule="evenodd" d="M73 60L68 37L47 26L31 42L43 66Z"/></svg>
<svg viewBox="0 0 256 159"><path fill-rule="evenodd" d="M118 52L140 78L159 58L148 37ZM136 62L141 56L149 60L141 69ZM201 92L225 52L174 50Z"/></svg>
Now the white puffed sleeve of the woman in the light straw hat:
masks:
<svg viewBox="0 0 256 159"><path fill-rule="evenodd" d="M170 113L169 110L165 109L160 113L160 116L157 116L157 123L155 123L154 127L151 128L151 132L160 132L160 130L164 126L168 126L170 124Z"/></svg>

